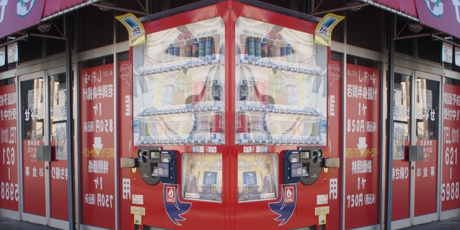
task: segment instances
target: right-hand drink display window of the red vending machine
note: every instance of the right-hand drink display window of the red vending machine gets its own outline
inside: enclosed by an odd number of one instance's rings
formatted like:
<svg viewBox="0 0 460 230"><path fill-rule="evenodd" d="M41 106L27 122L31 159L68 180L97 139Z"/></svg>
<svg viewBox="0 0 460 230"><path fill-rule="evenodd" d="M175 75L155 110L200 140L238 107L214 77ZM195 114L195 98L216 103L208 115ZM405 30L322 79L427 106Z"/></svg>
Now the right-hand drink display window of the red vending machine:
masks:
<svg viewBox="0 0 460 230"><path fill-rule="evenodd" d="M327 47L246 17L235 35L236 144L325 146Z"/></svg>

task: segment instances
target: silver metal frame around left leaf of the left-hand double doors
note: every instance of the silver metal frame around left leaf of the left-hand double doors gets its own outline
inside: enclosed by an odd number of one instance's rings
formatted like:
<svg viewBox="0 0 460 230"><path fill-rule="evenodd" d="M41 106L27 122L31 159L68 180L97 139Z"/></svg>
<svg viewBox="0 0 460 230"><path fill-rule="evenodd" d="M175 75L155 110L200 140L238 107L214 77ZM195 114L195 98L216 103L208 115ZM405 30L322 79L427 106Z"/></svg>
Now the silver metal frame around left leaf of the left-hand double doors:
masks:
<svg viewBox="0 0 460 230"><path fill-rule="evenodd" d="M34 72L34 73L30 73L30 74L24 74L24 75L20 75L18 76L18 108L22 108L22 82L23 81L26 81L26 80L32 80L32 79L43 79L44 81L44 89L43 89L43 92L45 92L44 96L45 96L45 103L44 103L44 109L45 109L45 119L43 121L43 127L44 127L44 130L43 130L43 135L44 135L44 145L49 145L49 129L46 129L45 127L48 127L49 125L49 121L47 121L46 118L49 118L49 111L46 109L47 107L49 107L49 94L47 94L46 92L48 92L48 81L49 79L46 77L46 71L38 71L38 72ZM44 172L44 176L45 176L45 210L46 210L46 215L45 216L38 216L38 215L34 215L34 214L29 214L29 213L26 213L24 212L24 175L22 173L22 168L23 168L23 146L22 146L22 119L23 119L23 114L22 114L22 109L19 109L18 110L18 113L21 113L21 116L18 116L20 117L20 121L19 121L19 118L18 118L18 127L19 127L19 131L18 131L18 136L20 138L18 138L18 152L21 154L19 157L19 165L20 165L20 168L19 168L19 184L20 184L20 192L19 192L19 203L20 203L20 207L19 207L19 210L20 210L20 215L21 215L21 220L23 221L28 221L28 222L34 222L34 223L38 223L38 224L42 224L42 225L49 225L49 217L50 217L50 206L49 206L49 170L45 171ZM49 162L44 162L44 165L45 165L45 168L49 168ZM48 185L48 186L46 186Z"/></svg>

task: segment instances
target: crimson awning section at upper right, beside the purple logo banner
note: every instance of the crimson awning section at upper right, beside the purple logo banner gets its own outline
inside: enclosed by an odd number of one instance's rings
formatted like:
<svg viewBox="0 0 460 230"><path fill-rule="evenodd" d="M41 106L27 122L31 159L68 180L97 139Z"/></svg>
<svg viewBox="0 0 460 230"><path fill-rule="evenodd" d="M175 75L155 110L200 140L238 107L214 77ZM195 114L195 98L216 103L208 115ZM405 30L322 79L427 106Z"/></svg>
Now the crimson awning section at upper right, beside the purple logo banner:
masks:
<svg viewBox="0 0 460 230"><path fill-rule="evenodd" d="M359 0L371 6L395 13L399 16L418 22L417 8L415 0ZM417 0L418 1L418 0ZM420 0L419 2L424 2Z"/></svg>

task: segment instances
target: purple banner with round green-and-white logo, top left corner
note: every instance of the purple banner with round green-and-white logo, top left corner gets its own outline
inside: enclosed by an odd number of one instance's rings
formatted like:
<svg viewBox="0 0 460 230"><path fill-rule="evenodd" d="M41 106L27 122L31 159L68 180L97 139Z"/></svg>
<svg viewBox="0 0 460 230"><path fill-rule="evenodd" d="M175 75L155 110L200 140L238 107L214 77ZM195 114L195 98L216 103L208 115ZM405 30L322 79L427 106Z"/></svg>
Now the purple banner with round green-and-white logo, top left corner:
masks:
<svg viewBox="0 0 460 230"><path fill-rule="evenodd" d="M40 23L45 0L0 1L0 37Z"/></svg>

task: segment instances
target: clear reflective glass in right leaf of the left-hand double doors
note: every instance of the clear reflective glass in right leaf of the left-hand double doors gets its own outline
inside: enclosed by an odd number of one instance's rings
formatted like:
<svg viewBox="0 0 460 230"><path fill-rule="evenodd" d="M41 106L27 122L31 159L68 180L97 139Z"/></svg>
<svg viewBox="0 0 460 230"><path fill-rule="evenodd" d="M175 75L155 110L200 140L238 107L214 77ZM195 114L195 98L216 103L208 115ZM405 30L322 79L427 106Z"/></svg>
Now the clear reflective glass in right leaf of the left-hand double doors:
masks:
<svg viewBox="0 0 460 230"><path fill-rule="evenodd" d="M49 122L51 124L51 145L55 147L55 159L67 159L67 98L66 74L49 77Z"/></svg>

